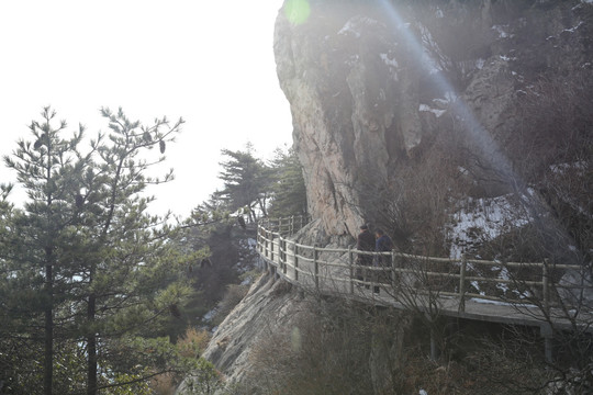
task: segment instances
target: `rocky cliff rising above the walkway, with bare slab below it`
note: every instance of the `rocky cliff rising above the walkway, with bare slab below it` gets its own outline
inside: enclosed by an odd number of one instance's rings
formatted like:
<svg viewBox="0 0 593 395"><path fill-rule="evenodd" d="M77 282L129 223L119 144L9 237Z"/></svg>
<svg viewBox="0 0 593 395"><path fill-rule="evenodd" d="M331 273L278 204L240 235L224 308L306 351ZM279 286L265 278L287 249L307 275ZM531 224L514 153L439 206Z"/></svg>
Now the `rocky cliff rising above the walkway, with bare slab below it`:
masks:
<svg viewBox="0 0 593 395"><path fill-rule="evenodd" d="M437 255L460 201L513 191L591 250L592 22L577 0L287 0L275 53L309 237L344 245L372 222ZM262 279L209 347L230 382L303 308L280 286Z"/></svg>

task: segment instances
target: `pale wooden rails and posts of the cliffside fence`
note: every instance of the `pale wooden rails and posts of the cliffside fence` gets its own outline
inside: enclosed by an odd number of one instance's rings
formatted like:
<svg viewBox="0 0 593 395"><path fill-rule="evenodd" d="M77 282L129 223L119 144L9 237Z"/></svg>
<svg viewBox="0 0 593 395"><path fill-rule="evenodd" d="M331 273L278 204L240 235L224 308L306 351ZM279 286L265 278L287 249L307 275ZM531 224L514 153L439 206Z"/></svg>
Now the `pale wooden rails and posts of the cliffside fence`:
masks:
<svg viewBox="0 0 593 395"><path fill-rule="evenodd" d="M299 225L299 226L296 226ZM295 232L306 225L306 222L301 219L294 219L294 217L282 218L282 219L266 219L258 224L257 233L257 250L259 253L268 259L271 264L278 267L282 274L288 276L290 273L293 275L293 281L300 284L303 284L306 281L306 278L313 278L314 284L312 284L316 290L320 289L321 281L326 280L321 279L322 270L325 271L334 269L343 269L344 275L334 275L327 281L335 283L348 283L348 292L350 294L355 293L355 286L358 285L390 285L395 290L399 283L399 279L402 275L418 274L418 271L422 272L424 279L457 279L458 286L454 291L448 291L443 287L435 292L438 292L440 295L446 296L456 296L459 298L459 312L463 312L466 307L466 300L471 298L483 298L488 301L499 301L499 302L508 302L510 298L505 296L497 295L488 295L485 293L470 293L467 290L467 284L470 282L484 282L484 283L494 283L495 285L507 286L508 284L518 284L522 286L534 286L538 290L541 290L541 298L538 300L546 311L549 311L552 305L552 290L557 289L586 289L585 285L563 285L552 283L550 276L550 271L552 270L582 270L583 268L575 264L550 264L547 260L545 262L501 262L501 261L489 261L481 259L467 259L465 256L461 259L450 259L443 257L425 257L411 253L404 253L399 251L391 252L373 252L373 251L360 251L357 249L349 248L320 248L316 246L307 246L299 244L294 240L289 239L288 237L292 236ZM326 255L333 255L335 259L325 258ZM370 282L367 280L359 280L356 278L356 269L358 269L355 263L355 255L368 255L377 258L390 257L391 264L381 266L381 267L365 267L371 275L377 275L381 273L389 272L389 275L385 276L388 281L378 283L376 280ZM324 256L324 259L321 258ZM340 261L344 259L344 261ZM405 263L412 262L414 267L405 267ZM310 264L310 270L307 271L306 264ZM429 270L427 266L432 263L446 263L449 267L449 271L435 271ZM312 267L311 267L312 264ZM418 264L425 264L424 268L418 269ZM513 279L513 278L492 278L483 275L467 275L469 270L473 270L473 266L490 267L492 269L502 269L502 268L526 268L526 269L539 269L540 278L539 280L530 279ZM486 270L488 271L488 270ZM532 275L535 273L530 273ZM454 283L449 284L452 285ZM303 284L304 285L304 284ZM423 291L424 287L433 286L434 284L419 284L417 292ZM521 290L515 290L518 294L524 294ZM539 292L538 292L539 293ZM530 300L533 301L533 300ZM526 301L528 302L528 301ZM536 301L537 302L537 301Z"/></svg>

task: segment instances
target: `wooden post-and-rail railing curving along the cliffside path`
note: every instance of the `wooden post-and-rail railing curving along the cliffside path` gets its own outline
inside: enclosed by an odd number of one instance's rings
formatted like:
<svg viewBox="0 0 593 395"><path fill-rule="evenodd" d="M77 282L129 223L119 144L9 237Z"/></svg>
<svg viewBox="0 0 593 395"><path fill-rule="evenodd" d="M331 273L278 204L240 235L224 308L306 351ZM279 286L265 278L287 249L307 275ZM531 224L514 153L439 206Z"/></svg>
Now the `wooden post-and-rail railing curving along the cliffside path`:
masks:
<svg viewBox="0 0 593 395"><path fill-rule="evenodd" d="M549 316L550 308L582 303L590 284L559 282L567 271L584 279L583 268L542 262L501 262L481 259L423 257L398 251L368 252L354 248L320 248L291 239L305 225L301 217L258 225L259 255L287 281L333 294L370 296L374 302L416 304L435 297L455 301L459 313L467 301L533 307ZM357 257L370 255L376 264L361 267ZM379 293L377 293L379 291ZM568 297L567 297L568 295ZM421 301L421 302L418 302Z"/></svg>

